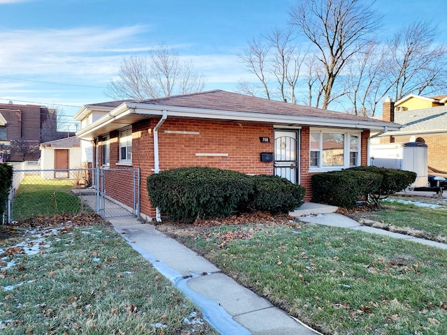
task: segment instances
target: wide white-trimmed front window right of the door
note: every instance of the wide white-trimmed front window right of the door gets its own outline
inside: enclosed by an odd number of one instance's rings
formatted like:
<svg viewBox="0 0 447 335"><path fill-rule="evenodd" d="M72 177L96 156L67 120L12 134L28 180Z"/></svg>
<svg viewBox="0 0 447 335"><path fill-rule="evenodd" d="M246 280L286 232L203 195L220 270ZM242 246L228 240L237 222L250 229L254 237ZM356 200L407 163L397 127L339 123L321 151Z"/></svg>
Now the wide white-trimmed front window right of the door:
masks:
<svg viewBox="0 0 447 335"><path fill-rule="evenodd" d="M309 139L311 170L349 168L360 164L360 133L312 130Z"/></svg>

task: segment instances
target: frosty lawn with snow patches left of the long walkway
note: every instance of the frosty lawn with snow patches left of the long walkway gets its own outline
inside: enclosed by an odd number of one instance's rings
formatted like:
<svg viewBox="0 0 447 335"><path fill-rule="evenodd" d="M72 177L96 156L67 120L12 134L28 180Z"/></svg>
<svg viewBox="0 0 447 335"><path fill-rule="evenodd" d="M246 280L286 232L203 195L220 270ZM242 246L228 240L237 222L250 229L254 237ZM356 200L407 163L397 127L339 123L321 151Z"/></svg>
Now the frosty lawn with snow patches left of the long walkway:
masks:
<svg viewBox="0 0 447 335"><path fill-rule="evenodd" d="M8 256L17 265L1 272L1 334L217 334L187 325L200 311L110 228L47 235L38 255Z"/></svg>

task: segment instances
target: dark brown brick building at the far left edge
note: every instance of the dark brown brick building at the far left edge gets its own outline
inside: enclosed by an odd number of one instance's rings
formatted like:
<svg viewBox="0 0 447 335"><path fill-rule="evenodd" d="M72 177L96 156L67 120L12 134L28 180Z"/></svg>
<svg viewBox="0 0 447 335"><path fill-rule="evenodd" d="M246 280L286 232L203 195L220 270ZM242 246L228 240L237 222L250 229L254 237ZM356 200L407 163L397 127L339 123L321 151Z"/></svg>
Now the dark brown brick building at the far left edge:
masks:
<svg viewBox="0 0 447 335"><path fill-rule="evenodd" d="M38 144L57 138L56 110L38 105L0 104L0 156L3 161L22 161L22 154L11 149L11 141L34 145L39 157Z"/></svg>

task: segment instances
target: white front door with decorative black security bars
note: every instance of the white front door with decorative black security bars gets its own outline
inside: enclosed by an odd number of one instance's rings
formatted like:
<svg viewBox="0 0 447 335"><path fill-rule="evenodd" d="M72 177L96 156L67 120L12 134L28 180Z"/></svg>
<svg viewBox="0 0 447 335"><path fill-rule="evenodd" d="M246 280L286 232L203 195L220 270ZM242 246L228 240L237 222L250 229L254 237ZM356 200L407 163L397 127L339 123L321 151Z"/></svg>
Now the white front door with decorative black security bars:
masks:
<svg viewBox="0 0 447 335"><path fill-rule="evenodd" d="M274 131L274 174L299 183L298 131Z"/></svg>

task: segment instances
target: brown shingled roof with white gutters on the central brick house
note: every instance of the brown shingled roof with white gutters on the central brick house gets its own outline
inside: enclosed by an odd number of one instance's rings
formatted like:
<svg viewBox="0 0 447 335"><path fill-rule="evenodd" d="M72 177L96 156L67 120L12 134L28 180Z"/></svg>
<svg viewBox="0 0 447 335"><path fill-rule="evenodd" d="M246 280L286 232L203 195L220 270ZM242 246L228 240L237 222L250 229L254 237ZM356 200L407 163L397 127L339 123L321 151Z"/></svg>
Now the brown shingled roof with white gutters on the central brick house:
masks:
<svg viewBox="0 0 447 335"><path fill-rule="evenodd" d="M80 136L87 133L96 136L101 131L106 133L123 127L126 122L132 124L142 119L160 117L162 111L167 112L170 118L177 119L268 122L289 126L349 126L349 128L374 128L379 130L384 127L397 130L400 127L400 125L392 122L222 90L203 91L145 101L129 99L89 104L83 106L75 115L75 118L80 119L88 110L108 110L109 112L95 121L94 124L81 129L78 132Z"/></svg>

